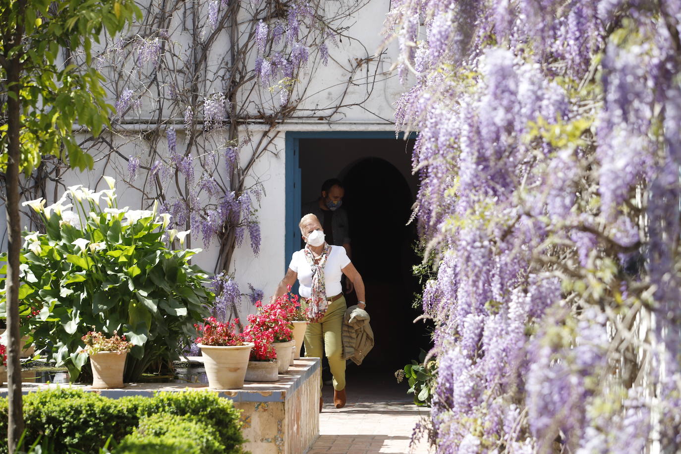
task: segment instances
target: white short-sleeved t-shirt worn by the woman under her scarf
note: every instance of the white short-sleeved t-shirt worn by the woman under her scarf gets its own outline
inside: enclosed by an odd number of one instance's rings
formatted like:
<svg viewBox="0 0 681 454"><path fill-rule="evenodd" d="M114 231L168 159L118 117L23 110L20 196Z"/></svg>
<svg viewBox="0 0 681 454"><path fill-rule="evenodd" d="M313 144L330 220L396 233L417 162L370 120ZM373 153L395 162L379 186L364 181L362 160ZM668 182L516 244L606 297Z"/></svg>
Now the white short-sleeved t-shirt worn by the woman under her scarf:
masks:
<svg viewBox="0 0 681 454"><path fill-rule="evenodd" d="M324 264L324 283L326 284L326 297L338 295L343 291L340 285L340 278L343 277L343 268L349 265L350 259L347 257L345 248L343 246L331 246L331 252ZM304 298L309 298L312 295L312 269L307 263L304 250L296 250L289 268L298 273L298 282L300 287L298 293Z"/></svg>

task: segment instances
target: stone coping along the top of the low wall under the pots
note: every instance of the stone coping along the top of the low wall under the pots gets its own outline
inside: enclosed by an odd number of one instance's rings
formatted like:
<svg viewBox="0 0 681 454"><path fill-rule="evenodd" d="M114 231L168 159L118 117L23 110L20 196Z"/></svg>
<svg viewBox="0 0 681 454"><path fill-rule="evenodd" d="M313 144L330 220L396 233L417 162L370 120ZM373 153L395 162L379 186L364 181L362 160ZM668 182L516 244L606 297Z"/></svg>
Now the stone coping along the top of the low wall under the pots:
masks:
<svg viewBox="0 0 681 454"><path fill-rule="evenodd" d="M320 368L319 358L300 358L294 361L287 374L280 374L275 382L245 382L241 389L213 389L206 383L126 383L121 389L93 389L89 385L62 383L23 383L22 394L28 394L42 389L59 387L73 387L92 391L106 398L118 399L128 395L142 395L152 397L157 391L183 392L195 390L210 390L220 397L234 402L285 402L294 394L306 380L309 380ZM0 387L0 397L7 397L7 385Z"/></svg>

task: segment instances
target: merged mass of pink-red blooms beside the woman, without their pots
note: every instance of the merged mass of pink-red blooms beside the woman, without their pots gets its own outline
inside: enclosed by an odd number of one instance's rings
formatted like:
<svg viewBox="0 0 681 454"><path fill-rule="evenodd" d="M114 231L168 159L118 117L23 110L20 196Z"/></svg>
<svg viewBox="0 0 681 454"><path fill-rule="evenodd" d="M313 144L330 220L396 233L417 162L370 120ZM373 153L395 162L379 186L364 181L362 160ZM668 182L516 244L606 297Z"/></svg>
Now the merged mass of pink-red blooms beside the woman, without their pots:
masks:
<svg viewBox="0 0 681 454"><path fill-rule="evenodd" d="M259 301L255 303L257 313L249 315L249 326L244 330L244 337L255 344L251 350L252 360L276 359L272 342L288 342L293 338L291 321L296 317L299 307L296 304L298 297L294 299L295 301L291 301L285 295L272 304L263 305Z"/></svg>

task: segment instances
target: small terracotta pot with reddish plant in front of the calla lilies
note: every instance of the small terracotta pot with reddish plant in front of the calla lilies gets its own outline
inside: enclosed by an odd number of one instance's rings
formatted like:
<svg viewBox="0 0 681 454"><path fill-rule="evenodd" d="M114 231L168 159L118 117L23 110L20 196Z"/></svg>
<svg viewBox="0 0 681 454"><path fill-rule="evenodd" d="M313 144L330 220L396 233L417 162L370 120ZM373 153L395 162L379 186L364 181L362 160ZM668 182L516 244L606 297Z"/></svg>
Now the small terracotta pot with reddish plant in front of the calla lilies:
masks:
<svg viewBox="0 0 681 454"><path fill-rule="evenodd" d="M122 388L123 370L125 370L125 358L132 348L132 343L125 339L125 336L114 335L110 338L101 334L100 331L88 331L82 336L85 352L90 357L92 367L92 387L102 388Z"/></svg>

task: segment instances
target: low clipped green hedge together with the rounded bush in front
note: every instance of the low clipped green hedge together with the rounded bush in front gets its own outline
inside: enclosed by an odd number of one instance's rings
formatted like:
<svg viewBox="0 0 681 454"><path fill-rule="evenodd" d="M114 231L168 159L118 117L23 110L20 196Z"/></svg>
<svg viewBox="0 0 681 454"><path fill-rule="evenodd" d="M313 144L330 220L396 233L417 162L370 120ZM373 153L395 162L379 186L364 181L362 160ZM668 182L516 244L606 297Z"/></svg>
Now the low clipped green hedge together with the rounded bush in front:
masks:
<svg viewBox="0 0 681 454"><path fill-rule="evenodd" d="M39 437L52 452L98 452L109 437L118 453L241 453L240 411L208 391L157 393L113 400L76 389L30 393L24 400L25 445ZM7 433L7 400L0 399L0 435ZM184 440L184 441L183 441ZM152 448L157 451L150 451ZM146 451L145 451L146 449ZM7 445L0 445L0 454Z"/></svg>

